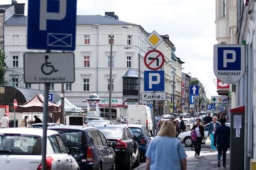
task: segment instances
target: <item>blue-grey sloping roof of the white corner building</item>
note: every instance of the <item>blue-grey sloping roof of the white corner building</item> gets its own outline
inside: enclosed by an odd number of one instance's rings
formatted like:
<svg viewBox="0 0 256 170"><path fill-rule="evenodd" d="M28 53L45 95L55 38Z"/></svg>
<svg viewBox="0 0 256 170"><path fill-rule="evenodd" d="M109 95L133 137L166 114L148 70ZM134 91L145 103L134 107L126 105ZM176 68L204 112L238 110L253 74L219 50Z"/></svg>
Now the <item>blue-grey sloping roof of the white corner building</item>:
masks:
<svg viewBox="0 0 256 170"><path fill-rule="evenodd" d="M13 15L10 19L8 19L4 25L26 25L28 16L24 15ZM112 25L136 25L133 23L128 23L120 20L116 20L107 16L100 16L100 15L83 15L83 16L76 16L76 24L89 24L92 25L94 23L97 24L112 24ZM139 25L138 25L139 26Z"/></svg>

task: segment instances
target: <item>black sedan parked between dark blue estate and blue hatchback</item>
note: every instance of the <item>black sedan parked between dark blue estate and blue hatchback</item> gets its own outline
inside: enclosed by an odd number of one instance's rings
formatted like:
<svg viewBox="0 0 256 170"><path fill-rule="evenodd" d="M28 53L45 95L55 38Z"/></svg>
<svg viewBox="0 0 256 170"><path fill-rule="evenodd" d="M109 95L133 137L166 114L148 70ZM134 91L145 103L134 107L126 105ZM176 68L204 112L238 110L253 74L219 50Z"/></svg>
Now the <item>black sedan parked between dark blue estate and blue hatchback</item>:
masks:
<svg viewBox="0 0 256 170"><path fill-rule="evenodd" d="M131 170L140 165L139 145L132 132L124 125L96 126L106 137L108 143L115 143L116 166Z"/></svg>

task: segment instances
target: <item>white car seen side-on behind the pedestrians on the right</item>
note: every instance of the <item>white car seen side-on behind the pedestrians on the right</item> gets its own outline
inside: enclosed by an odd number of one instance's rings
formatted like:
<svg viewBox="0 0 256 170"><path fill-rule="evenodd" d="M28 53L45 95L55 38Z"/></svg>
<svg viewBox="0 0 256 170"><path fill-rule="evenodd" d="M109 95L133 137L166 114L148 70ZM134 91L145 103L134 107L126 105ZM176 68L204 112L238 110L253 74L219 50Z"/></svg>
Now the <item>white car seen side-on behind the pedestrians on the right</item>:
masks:
<svg viewBox="0 0 256 170"><path fill-rule="evenodd" d="M226 123L225 125L230 127L230 123ZM206 125L204 125L204 140L202 141L202 143L205 143L208 137L209 126L210 126L210 123L207 123ZM180 133L180 135L178 136L178 139L180 139L180 142L184 143L186 147L192 147L192 139L190 137L190 133L191 131L187 131L187 132Z"/></svg>

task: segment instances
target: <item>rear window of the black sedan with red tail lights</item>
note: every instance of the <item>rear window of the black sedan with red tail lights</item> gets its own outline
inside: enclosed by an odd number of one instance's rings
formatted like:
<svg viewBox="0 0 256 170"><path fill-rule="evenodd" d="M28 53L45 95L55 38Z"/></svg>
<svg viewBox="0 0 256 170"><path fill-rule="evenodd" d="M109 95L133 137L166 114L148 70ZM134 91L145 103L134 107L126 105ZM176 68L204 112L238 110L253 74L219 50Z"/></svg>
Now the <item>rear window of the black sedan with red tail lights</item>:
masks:
<svg viewBox="0 0 256 170"><path fill-rule="evenodd" d="M123 136L123 128L122 127L98 127L103 135L109 138L121 139Z"/></svg>

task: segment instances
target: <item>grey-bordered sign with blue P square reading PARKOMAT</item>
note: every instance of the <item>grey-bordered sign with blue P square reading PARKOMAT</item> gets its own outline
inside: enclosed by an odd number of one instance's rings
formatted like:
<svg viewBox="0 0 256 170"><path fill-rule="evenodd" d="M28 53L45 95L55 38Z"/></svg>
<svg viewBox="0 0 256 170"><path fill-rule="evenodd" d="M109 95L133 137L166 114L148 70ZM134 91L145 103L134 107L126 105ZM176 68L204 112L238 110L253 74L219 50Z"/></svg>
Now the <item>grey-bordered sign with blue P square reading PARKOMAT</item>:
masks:
<svg viewBox="0 0 256 170"><path fill-rule="evenodd" d="M238 82L245 70L244 45L214 45L214 74L224 83Z"/></svg>

